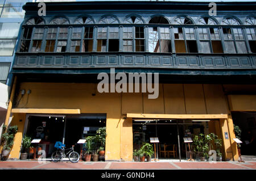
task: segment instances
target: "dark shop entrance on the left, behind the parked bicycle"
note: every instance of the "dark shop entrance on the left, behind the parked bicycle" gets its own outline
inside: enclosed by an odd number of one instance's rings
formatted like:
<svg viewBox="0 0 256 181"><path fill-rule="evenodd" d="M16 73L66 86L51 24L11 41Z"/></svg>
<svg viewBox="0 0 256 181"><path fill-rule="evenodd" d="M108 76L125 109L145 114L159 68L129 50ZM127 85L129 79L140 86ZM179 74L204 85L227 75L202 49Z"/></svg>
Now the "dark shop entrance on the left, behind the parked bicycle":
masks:
<svg viewBox="0 0 256 181"><path fill-rule="evenodd" d="M63 142L67 148L87 136L94 136L100 127L106 127L106 114L79 115L27 115L24 135L33 139L41 139L36 148L46 151L46 157L56 149L56 141ZM75 151L80 153L84 145L76 145Z"/></svg>

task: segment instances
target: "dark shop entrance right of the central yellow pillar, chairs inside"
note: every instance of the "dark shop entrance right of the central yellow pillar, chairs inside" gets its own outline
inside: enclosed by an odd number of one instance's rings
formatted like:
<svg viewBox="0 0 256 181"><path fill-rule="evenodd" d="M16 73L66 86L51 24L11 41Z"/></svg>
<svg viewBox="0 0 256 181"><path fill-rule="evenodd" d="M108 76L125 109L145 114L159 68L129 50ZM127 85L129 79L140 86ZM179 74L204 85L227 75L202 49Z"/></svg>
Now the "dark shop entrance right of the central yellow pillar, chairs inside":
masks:
<svg viewBox="0 0 256 181"><path fill-rule="evenodd" d="M210 121L210 120L209 120ZM193 138L200 133L208 134L208 121L192 120L133 120L133 149L139 150L150 137L158 137L158 159L188 159L189 148L184 137ZM179 157L180 150L180 157Z"/></svg>

